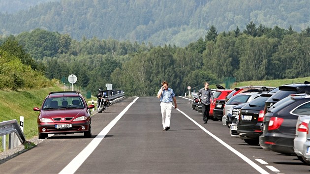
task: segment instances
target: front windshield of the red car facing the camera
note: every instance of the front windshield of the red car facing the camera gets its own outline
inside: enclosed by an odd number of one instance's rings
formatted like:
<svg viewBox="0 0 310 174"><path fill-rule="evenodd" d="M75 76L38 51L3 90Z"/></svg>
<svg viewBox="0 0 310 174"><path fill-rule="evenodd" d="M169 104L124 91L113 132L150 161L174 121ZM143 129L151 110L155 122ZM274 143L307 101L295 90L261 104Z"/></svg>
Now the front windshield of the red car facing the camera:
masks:
<svg viewBox="0 0 310 174"><path fill-rule="evenodd" d="M43 110L84 108L80 97L53 97L47 98L43 104Z"/></svg>

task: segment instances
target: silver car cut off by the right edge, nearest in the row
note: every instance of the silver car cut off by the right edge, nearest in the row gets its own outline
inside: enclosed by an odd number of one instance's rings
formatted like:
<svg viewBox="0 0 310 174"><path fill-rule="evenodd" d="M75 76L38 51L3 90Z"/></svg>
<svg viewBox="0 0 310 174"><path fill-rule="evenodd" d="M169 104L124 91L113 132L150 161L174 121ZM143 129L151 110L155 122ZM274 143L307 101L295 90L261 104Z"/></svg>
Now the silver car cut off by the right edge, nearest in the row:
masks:
<svg viewBox="0 0 310 174"><path fill-rule="evenodd" d="M310 116L298 116L294 138L294 152L297 154L298 159L306 164L310 164L310 149L308 149L308 145L306 144L310 140L309 123ZM304 148L305 145L306 148Z"/></svg>

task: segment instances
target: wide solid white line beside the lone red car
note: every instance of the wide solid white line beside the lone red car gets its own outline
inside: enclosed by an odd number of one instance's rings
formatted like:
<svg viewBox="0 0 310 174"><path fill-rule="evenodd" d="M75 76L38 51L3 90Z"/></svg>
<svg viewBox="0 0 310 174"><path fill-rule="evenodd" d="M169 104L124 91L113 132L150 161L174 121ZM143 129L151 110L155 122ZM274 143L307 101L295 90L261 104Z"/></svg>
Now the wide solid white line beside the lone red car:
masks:
<svg viewBox="0 0 310 174"><path fill-rule="evenodd" d="M83 162L90 156L93 150L99 145L103 138L108 134L111 128L121 119L133 103L137 101L136 97L118 116L116 116L102 131L87 145L59 174L74 174Z"/></svg>

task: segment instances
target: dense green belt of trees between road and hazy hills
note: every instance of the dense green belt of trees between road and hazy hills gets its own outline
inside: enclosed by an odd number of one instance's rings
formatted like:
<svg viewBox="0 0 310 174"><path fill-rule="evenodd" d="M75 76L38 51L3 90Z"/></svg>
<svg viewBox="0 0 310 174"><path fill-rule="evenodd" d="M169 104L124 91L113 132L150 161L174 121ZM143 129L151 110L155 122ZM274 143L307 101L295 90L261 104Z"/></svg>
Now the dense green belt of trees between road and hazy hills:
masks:
<svg viewBox="0 0 310 174"><path fill-rule="evenodd" d="M268 28L253 22L244 30L237 27L229 32L211 26L205 37L186 47L96 37L78 41L68 34L34 29L0 39L0 57L6 57L0 65L0 88L16 89L23 84L32 88L34 83L44 82L40 75L63 80L75 74L76 85L93 94L112 83L128 96L154 96L166 80L181 95L187 86L203 87L204 81L217 84L230 78L241 82L308 77L309 50L309 27L297 32L292 27ZM20 72L14 73L14 68ZM12 86L5 86L3 79L11 77ZM33 84L26 84L24 78L31 78Z"/></svg>

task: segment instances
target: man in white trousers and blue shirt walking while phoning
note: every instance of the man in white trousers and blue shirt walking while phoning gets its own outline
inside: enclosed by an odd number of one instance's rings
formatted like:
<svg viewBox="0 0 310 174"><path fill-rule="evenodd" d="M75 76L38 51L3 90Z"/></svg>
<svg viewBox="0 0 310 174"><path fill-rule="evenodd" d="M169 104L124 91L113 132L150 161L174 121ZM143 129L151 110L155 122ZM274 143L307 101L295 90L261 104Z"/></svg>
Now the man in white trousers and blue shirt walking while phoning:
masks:
<svg viewBox="0 0 310 174"><path fill-rule="evenodd" d="M157 93L157 98L160 99L160 109L162 116L162 127L163 130L167 131L170 129L170 117L171 117L171 108L172 100L174 102L174 108L177 109L177 100L176 95L173 92L173 89L169 88L168 82L162 82L162 87Z"/></svg>

